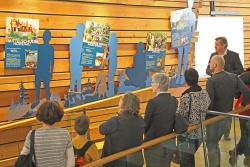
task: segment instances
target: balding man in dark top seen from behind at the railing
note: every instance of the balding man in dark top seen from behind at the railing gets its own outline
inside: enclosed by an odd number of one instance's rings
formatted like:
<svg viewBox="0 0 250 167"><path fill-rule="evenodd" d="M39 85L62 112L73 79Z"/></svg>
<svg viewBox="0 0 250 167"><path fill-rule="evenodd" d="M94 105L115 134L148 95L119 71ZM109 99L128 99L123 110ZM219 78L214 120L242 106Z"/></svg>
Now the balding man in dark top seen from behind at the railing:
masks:
<svg viewBox="0 0 250 167"><path fill-rule="evenodd" d="M207 91L211 99L209 110L229 112L233 109L234 96L243 93L242 105L246 106L249 91L246 85L236 74L224 71L225 60L223 55L215 55L210 61L210 70L213 73L207 81ZM208 115L208 118L211 118ZM207 149L210 167L220 167L219 141L228 128L228 121L224 119L207 126Z"/></svg>

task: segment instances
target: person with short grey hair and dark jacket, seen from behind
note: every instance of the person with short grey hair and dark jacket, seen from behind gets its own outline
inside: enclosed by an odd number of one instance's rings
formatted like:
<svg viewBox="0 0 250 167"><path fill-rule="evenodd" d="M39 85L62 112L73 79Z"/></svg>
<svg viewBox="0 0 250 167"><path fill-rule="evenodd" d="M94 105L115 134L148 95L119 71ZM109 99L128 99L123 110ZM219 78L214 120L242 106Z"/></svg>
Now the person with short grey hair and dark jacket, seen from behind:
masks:
<svg viewBox="0 0 250 167"><path fill-rule="evenodd" d="M146 123L144 141L173 132L177 100L168 93L169 78L164 73L152 76L152 90L156 97L148 101L144 121ZM145 149L147 167L170 167L173 151L163 144Z"/></svg>

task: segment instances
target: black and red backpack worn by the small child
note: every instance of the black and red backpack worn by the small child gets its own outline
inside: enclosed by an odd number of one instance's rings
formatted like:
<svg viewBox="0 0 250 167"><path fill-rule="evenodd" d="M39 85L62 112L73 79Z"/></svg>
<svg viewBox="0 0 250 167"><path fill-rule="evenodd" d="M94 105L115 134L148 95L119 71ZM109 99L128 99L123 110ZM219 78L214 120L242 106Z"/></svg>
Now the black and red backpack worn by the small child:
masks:
<svg viewBox="0 0 250 167"><path fill-rule="evenodd" d="M86 160L84 159L84 155L92 144L94 144L93 141L87 141L87 143L80 149L76 149L74 147L75 167L82 167L87 164Z"/></svg>

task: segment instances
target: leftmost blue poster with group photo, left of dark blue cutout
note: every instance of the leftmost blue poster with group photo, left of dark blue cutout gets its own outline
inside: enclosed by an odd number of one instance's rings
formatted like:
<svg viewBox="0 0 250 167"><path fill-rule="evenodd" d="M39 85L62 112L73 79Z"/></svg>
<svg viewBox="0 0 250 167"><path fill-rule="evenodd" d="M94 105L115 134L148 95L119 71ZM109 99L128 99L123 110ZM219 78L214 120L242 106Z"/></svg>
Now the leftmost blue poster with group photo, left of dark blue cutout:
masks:
<svg viewBox="0 0 250 167"><path fill-rule="evenodd" d="M39 20L6 17L5 68L36 68Z"/></svg>

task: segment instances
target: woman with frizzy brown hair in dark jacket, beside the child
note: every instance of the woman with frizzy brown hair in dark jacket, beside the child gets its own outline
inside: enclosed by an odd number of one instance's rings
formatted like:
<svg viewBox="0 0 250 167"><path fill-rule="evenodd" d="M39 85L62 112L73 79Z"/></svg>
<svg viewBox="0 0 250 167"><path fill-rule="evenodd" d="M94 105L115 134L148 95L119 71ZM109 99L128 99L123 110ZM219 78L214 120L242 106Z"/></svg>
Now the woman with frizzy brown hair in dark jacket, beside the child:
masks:
<svg viewBox="0 0 250 167"><path fill-rule="evenodd" d="M118 116L110 118L100 126L100 133L105 135L103 157L139 146L143 142L145 123L139 115L139 98L132 93L126 93L120 99L119 108ZM142 167L142 152L128 155L104 166Z"/></svg>

